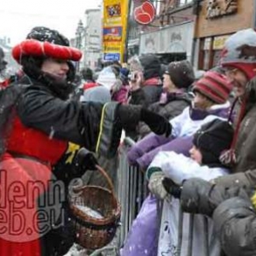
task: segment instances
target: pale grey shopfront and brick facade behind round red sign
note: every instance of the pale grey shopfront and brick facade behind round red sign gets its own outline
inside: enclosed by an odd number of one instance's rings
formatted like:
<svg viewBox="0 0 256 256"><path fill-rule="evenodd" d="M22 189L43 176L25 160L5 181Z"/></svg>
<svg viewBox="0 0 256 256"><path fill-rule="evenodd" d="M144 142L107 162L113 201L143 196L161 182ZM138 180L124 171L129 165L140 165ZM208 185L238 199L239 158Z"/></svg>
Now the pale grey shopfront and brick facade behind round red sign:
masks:
<svg viewBox="0 0 256 256"><path fill-rule="evenodd" d="M141 3L140 3L141 2ZM133 1L131 18L134 9L143 1ZM195 15L193 15L193 0L151 1L154 4L155 18L148 25L130 26L128 49L133 53L154 53L161 61L169 63L191 58L194 38ZM133 19L134 20L134 19ZM136 32L134 32L136 31ZM137 38L136 38L137 37ZM132 52L132 51L130 51Z"/></svg>

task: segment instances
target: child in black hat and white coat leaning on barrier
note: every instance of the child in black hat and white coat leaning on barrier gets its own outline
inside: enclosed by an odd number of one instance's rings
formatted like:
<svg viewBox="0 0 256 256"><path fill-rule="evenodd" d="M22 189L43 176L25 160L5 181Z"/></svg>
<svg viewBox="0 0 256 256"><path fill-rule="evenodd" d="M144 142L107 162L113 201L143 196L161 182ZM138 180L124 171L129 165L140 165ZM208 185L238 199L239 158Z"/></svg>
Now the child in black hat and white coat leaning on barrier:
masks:
<svg viewBox="0 0 256 256"><path fill-rule="evenodd" d="M159 199L166 199L160 224L159 256L176 255L178 251L181 252L181 256L188 255L191 237L193 237L190 247L192 255L202 255L207 247L210 248L210 256L219 255L220 246L218 237L212 230L212 220L202 215L192 217L189 213L183 213L182 221L179 212L180 202L175 198L170 200L167 191L168 183L182 184L190 177L201 177L208 181L228 174L229 171L220 162L219 156L230 148L232 138L233 128L230 123L215 119L202 125L195 133L193 147L189 150L190 158L173 151L160 152L148 167L147 176L150 177L148 188ZM165 178L163 182L165 176L170 179ZM193 230L192 236L189 235L189 225ZM182 237L182 240L178 241L178 237Z"/></svg>

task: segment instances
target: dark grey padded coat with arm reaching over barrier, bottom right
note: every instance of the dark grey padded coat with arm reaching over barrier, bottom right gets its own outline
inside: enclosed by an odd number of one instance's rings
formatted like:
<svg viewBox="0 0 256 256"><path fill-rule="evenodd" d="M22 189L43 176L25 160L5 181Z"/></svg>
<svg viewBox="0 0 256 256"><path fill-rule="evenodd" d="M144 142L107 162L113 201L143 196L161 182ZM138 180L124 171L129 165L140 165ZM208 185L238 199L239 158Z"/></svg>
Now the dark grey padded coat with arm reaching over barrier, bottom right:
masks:
<svg viewBox="0 0 256 256"><path fill-rule="evenodd" d="M256 212L239 186L224 188L192 178L183 183L181 202L186 212L212 217L214 230L226 256L256 255ZM252 194L251 194L252 195Z"/></svg>

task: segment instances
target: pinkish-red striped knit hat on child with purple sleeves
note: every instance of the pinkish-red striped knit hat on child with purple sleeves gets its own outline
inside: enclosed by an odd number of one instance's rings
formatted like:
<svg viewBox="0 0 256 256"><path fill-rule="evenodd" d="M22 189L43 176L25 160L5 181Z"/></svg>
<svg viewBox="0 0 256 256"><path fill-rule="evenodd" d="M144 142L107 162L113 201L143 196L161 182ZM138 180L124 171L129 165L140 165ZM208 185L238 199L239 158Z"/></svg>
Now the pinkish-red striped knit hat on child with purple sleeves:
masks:
<svg viewBox="0 0 256 256"><path fill-rule="evenodd" d="M193 91L200 92L212 102L223 104L230 96L232 84L223 74L208 71L203 78L195 82Z"/></svg>

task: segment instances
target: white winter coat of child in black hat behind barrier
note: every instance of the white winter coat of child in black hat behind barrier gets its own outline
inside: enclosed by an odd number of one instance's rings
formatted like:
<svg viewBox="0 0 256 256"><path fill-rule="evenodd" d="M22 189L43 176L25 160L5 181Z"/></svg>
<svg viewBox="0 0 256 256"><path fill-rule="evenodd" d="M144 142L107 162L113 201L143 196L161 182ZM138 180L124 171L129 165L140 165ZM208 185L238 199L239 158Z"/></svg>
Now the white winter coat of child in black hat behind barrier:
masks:
<svg viewBox="0 0 256 256"><path fill-rule="evenodd" d="M182 184L183 180L190 177L201 177L202 179L210 180L228 173L228 170L224 168L200 166L195 160L173 151L160 152L155 156L150 166L160 167L166 177L172 178L173 182L177 184ZM189 239L190 219L194 218L191 255L204 255L204 247L206 246L206 242L204 241L207 241L207 245L209 245L209 255L219 256L220 245L218 237L215 236L213 232L212 220L202 215L192 217L189 213L183 213L183 229L179 230L179 208L180 201L177 199L172 198L172 201L164 201L158 255L175 255L175 253L177 253L178 237L182 237L180 255L188 255L188 245L191 239ZM207 224L205 222L207 222ZM206 229L207 233L203 231Z"/></svg>

